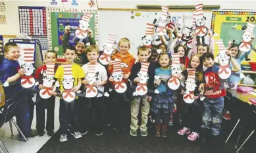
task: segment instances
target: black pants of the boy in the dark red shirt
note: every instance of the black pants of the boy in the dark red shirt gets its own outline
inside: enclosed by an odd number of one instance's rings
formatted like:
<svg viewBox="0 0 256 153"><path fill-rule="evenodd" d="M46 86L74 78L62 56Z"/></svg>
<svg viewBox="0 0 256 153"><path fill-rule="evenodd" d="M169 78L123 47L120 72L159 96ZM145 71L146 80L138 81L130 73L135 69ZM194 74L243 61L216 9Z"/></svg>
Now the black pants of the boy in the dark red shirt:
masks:
<svg viewBox="0 0 256 153"><path fill-rule="evenodd" d="M39 95L37 96L39 98ZM45 129L45 108L47 109L46 130L54 130L54 109L55 97L52 96L48 99L41 98L36 104L36 129L43 131Z"/></svg>

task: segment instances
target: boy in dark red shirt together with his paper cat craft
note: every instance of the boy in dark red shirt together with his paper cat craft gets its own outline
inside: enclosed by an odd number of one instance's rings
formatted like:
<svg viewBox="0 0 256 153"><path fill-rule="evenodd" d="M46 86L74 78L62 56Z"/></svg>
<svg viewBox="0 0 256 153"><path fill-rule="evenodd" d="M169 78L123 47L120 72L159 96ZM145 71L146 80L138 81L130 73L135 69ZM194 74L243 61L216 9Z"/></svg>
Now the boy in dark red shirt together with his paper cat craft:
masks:
<svg viewBox="0 0 256 153"><path fill-rule="evenodd" d="M40 89L36 104L36 129L38 130L39 137L45 135L45 108L47 108L47 122L46 130L47 135L52 136L54 130L54 108L55 97L52 96L53 85L55 82L55 72L57 65L57 53L55 51L47 51L45 53L45 65L36 70L35 78L39 82L38 88Z"/></svg>

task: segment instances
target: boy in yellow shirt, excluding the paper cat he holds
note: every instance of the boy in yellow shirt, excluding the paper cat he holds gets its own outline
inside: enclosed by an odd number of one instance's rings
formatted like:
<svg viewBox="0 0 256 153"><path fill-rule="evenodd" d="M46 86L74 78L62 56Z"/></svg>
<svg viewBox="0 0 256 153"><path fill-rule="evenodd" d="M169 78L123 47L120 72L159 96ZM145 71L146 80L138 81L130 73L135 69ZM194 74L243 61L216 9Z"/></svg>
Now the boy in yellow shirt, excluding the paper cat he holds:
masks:
<svg viewBox="0 0 256 153"><path fill-rule="evenodd" d="M75 47L67 47L64 51L64 57L66 58L66 64L72 64L71 72L72 77L74 78L74 87L72 87L71 91L76 92L80 89L82 84L82 78L84 78L84 71L78 64L74 63L74 58L76 58L76 48ZM57 82L61 85L60 91L61 93L64 91L63 85L61 82L64 79L64 68L63 66L59 66L57 69L57 72L55 74L55 77L57 79ZM55 83L56 85L56 83ZM56 91L53 91L53 95L57 95ZM77 99L78 97L76 97ZM68 116L70 116L72 120L72 128L71 128L71 135L74 136L74 138L78 139L82 137L81 133L78 131L78 109L79 105L77 104L76 99L74 100L74 110L71 110L71 112L68 112L68 108L65 106L65 102L63 98L60 98L60 109L59 109L59 119L60 119L60 131L61 131L61 138L60 141L68 141L66 134L66 127L68 123Z"/></svg>

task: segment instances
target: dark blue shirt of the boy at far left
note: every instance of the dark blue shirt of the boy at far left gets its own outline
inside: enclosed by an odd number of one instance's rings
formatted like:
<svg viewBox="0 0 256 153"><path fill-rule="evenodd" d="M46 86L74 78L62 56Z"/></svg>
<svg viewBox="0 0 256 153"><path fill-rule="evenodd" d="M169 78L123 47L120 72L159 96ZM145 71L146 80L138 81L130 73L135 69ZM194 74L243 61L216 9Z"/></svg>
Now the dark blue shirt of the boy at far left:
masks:
<svg viewBox="0 0 256 153"><path fill-rule="evenodd" d="M18 64L18 61L4 58L2 64L0 65L0 81L2 83L5 83L8 77L11 77L17 74L19 69L20 69L20 64ZM20 81L20 79L18 79L17 81ZM18 85L11 85L9 87L3 87L3 88L5 89L5 96L7 98L13 97L16 91L20 91L22 89L20 87L20 83L18 83Z"/></svg>

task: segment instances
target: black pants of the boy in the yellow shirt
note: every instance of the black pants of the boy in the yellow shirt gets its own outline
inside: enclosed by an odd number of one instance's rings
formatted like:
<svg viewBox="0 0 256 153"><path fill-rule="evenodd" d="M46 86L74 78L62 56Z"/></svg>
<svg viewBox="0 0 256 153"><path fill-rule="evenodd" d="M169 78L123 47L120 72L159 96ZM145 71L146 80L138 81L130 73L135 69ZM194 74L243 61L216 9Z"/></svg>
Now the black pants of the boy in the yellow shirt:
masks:
<svg viewBox="0 0 256 153"><path fill-rule="evenodd" d="M68 111L70 109L70 111ZM79 112L79 102L74 100L73 104L67 104L64 100L60 99L59 107L59 121L60 121L60 131L61 135L67 134L68 118L70 118L71 132L78 130L78 112Z"/></svg>

